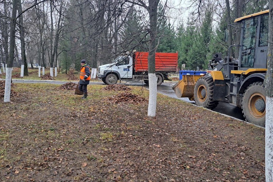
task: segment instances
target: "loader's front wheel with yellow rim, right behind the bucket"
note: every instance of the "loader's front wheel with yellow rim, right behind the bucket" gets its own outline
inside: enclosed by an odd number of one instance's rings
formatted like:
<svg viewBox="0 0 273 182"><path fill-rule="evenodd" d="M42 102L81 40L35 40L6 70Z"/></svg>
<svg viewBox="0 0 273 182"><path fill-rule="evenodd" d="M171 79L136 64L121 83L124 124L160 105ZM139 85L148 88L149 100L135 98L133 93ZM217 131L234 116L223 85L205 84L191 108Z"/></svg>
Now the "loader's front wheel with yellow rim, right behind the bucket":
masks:
<svg viewBox="0 0 273 182"><path fill-rule="evenodd" d="M197 80L194 86L194 100L197 106L214 109L218 105L219 101L212 99L213 85L213 78L209 76L203 76Z"/></svg>

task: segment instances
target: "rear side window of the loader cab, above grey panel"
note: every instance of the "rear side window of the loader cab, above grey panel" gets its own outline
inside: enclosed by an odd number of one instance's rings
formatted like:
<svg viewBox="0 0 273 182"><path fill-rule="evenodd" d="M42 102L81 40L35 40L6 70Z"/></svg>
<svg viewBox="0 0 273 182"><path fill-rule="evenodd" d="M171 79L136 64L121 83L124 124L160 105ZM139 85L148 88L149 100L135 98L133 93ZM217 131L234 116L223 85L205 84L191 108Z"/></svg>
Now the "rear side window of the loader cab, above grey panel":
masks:
<svg viewBox="0 0 273 182"><path fill-rule="evenodd" d="M259 47L268 45L268 15L261 16Z"/></svg>

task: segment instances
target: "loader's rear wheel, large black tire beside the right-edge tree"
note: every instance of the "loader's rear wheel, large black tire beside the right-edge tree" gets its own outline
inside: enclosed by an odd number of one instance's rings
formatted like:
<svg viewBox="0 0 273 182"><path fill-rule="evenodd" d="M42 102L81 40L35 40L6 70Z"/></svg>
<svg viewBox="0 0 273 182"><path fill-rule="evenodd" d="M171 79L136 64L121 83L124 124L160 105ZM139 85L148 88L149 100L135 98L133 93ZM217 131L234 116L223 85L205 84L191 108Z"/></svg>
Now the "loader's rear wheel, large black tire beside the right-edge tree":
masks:
<svg viewBox="0 0 273 182"><path fill-rule="evenodd" d="M255 82L247 87L242 102L246 121L265 127L265 98L265 86L262 82Z"/></svg>

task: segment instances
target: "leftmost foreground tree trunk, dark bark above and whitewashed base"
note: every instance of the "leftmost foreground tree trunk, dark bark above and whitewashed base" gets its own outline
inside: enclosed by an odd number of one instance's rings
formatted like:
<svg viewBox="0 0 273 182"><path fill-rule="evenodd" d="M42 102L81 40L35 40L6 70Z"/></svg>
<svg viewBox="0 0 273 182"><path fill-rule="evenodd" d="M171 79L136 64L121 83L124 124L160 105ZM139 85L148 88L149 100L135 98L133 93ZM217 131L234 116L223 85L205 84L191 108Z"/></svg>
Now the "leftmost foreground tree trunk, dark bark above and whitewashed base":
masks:
<svg viewBox="0 0 273 182"><path fill-rule="evenodd" d="M11 90L11 78L12 78L12 64L14 60L14 49L15 49L15 25L16 25L16 13L18 1L12 2L12 17L10 20L10 46L9 46L9 56L7 61L6 69L6 82L5 82L5 95L4 102L10 102L10 90Z"/></svg>

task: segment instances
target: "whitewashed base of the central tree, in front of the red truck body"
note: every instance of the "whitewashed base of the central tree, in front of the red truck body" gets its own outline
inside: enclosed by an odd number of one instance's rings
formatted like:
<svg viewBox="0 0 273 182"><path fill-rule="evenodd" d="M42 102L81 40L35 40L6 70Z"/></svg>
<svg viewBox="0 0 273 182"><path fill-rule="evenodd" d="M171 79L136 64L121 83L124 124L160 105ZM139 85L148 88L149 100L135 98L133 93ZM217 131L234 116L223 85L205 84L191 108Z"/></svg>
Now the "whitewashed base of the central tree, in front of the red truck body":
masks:
<svg viewBox="0 0 273 182"><path fill-rule="evenodd" d="M155 73L149 73L149 105L148 116L156 116L157 109L157 76Z"/></svg>

